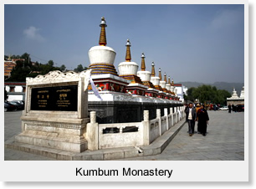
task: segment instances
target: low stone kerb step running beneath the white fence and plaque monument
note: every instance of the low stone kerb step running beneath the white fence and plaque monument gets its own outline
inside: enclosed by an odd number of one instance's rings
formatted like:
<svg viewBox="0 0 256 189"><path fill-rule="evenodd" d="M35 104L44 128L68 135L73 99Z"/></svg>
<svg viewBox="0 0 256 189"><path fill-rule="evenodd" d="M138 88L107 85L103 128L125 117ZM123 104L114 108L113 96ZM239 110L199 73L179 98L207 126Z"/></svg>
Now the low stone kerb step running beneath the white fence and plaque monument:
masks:
<svg viewBox="0 0 256 189"><path fill-rule="evenodd" d="M186 122L180 121L177 125L174 125L170 130L167 130L166 133L154 140L149 146L138 146L141 151L138 151L138 148L136 147L122 147L77 153L15 142L13 141L13 138L7 140L4 146L17 151L25 151L40 156L47 156L59 161L108 161L137 156L154 156L161 154L161 152L164 151L166 146L168 146L185 123Z"/></svg>

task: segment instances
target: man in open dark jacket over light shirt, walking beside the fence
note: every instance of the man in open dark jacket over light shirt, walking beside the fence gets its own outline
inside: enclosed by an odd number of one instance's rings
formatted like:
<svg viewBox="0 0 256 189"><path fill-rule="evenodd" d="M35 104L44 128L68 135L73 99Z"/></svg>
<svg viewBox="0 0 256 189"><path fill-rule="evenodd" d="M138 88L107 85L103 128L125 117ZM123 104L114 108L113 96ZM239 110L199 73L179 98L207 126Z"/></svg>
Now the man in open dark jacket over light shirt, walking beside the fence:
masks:
<svg viewBox="0 0 256 189"><path fill-rule="evenodd" d="M196 119L197 119L196 109L193 107L192 103L189 103L188 108L186 110L186 120L188 123L188 133L190 136L194 134Z"/></svg>

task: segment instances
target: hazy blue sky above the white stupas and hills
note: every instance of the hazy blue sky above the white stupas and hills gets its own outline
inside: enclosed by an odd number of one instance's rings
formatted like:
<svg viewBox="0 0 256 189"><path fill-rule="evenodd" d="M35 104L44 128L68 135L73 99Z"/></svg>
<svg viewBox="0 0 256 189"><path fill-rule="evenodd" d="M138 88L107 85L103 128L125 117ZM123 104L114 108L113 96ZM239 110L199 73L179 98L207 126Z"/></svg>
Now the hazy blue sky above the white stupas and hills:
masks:
<svg viewBox="0 0 256 189"><path fill-rule="evenodd" d="M115 49L115 69L131 61L175 82L244 82L244 7L233 4L4 5L4 54L30 54L32 61L74 69L89 67L88 51L99 45L105 17L107 46Z"/></svg>

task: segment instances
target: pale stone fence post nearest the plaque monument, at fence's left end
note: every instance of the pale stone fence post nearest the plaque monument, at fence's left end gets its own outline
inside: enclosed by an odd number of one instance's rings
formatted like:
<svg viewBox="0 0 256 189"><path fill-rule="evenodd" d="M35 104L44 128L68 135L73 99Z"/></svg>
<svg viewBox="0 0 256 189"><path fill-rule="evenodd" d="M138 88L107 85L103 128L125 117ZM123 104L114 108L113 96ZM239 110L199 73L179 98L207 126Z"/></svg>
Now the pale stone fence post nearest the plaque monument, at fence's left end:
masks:
<svg viewBox="0 0 256 189"><path fill-rule="evenodd" d="M99 125L96 123L96 112L90 112L90 123L87 124L88 150L99 150Z"/></svg>

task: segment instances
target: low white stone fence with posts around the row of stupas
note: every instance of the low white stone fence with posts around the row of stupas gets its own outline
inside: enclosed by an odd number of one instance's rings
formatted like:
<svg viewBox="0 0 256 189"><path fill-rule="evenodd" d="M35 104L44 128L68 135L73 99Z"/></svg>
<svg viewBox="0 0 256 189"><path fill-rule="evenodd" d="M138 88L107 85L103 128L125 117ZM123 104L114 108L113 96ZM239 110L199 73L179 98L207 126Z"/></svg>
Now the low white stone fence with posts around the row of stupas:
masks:
<svg viewBox="0 0 256 189"><path fill-rule="evenodd" d="M88 140L88 150L95 151L106 148L125 146L147 146L166 130L170 130L185 117L184 107L170 108L168 115L164 109L156 110L156 119L149 120L149 110L144 110L144 120L132 123L98 124L96 112L90 112L90 123L87 124L85 138Z"/></svg>

